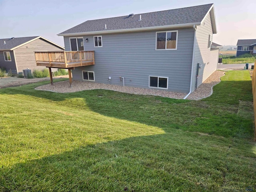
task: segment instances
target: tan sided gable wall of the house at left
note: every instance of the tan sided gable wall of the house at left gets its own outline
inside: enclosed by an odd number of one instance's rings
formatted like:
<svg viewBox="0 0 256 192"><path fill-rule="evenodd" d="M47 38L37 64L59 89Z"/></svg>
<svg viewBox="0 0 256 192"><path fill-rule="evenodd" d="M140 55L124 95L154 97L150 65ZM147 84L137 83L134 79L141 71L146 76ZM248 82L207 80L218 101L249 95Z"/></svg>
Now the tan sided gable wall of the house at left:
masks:
<svg viewBox="0 0 256 192"><path fill-rule="evenodd" d="M25 44L15 49L16 63L18 72L23 69L44 69L45 67L36 66L35 51L61 51L59 47L46 42L43 39L36 39L28 44Z"/></svg>

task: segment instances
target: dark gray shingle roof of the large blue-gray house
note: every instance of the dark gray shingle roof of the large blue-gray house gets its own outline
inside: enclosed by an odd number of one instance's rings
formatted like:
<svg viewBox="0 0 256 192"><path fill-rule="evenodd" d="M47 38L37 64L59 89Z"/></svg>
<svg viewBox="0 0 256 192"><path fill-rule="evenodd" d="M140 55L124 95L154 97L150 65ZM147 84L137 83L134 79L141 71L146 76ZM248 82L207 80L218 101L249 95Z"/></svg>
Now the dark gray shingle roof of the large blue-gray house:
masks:
<svg viewBox="0 0 256 192"><path fill-rule="evenodd" d="M136 14L131 17L120 16L88 20L58 35L68 36L78 34L103 34L188 26L192 27L194 25L200 25L208 13L210 13L213 33L216 34L217 30L214 4L206 4L172 10ZM140 19L140 15L141 20L138 21Z"/></svg>

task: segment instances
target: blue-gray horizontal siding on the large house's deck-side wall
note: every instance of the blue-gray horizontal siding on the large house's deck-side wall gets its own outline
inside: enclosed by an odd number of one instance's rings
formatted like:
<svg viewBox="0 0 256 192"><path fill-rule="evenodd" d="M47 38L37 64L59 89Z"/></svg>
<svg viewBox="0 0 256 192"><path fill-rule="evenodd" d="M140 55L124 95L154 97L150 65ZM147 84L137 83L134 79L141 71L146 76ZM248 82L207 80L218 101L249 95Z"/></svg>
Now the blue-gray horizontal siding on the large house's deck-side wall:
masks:
<svg viewBox="0 0 256 192"><path fill-rule="evenodd" d="M82 80L83 70L93 71L98 83L109 84L111 77L112 84L123 85L121 76L125 86L149 88L149 76L163 76L168 77L169 91L189 92L194 29L177 30L177 50L156 50L159 31L102 34L102 47L94 47L93 35L83 36L84 50L95 51L95 65L75 68L73 79ZM69 37L64 44L70 50Z"/></svg>

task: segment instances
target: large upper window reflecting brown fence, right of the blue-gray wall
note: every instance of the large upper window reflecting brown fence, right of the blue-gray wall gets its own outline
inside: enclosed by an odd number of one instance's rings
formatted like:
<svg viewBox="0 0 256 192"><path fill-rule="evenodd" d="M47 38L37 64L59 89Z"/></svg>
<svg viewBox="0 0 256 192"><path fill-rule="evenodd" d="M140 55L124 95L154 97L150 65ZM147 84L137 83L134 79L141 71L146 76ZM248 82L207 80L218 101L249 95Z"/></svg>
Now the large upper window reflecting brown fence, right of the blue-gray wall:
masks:
<svg viewBox="0 0 256 192"><path fill-rule="evenodd" d="M156 50L177 50L178 31L156 32Z"/></svg>

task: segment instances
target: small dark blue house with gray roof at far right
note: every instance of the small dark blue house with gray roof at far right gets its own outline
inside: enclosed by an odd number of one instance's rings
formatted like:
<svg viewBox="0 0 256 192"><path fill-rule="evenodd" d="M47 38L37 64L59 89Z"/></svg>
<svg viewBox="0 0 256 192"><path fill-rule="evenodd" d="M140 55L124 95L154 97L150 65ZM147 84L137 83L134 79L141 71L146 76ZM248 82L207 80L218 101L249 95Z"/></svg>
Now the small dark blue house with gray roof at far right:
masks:
<svg viewBox="0 0 256 192"><path fill-rule="evenodd" d="M236 46L236 56L256 54L256 39L238 39Z"/></svg>

